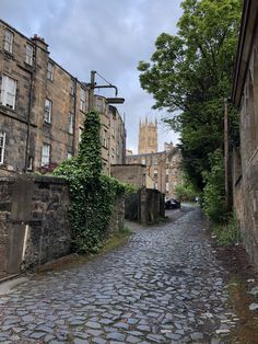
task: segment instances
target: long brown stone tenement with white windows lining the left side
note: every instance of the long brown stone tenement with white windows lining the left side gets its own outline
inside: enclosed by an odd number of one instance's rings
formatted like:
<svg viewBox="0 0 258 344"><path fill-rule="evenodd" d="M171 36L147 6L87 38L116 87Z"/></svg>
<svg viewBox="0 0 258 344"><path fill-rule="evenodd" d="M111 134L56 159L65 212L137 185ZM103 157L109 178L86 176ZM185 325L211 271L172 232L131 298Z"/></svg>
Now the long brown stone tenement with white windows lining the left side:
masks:
<svg viewBox="0 0 258 344"><path fill-rule="evenodd" d="M89 87L50 58L46 42L0 20L0 174L51 170L77 154ZM95 96L102 114L102 157L125 162L125 125L116 107Z"/></svg>

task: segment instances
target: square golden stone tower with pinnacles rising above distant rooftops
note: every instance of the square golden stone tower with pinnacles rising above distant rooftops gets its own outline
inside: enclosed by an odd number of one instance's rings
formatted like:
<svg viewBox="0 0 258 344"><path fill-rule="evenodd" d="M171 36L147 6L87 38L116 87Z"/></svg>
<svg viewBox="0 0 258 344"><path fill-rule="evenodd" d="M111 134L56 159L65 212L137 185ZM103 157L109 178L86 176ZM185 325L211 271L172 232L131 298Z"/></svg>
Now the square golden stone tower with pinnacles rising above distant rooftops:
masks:
<svg viewBox="0 0 258 344"><path fill-rule="evenodd" d="M157 152L157 123L149 122L148 117L139 124L138 154Z"/></svg>

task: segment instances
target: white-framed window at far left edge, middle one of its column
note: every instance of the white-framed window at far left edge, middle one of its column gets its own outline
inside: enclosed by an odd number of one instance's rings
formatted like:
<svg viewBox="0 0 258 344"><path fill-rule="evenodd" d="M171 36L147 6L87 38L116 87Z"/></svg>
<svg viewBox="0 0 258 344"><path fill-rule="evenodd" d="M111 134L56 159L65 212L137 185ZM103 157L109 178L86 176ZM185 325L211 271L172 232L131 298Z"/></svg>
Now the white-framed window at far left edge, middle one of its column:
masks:
<svg viewBox="0 0 258 344"><path fill-rule="evenodd" d="M2 74L0 100L2 105L13 110L15 108L16 87L16 80Z"/></svg>

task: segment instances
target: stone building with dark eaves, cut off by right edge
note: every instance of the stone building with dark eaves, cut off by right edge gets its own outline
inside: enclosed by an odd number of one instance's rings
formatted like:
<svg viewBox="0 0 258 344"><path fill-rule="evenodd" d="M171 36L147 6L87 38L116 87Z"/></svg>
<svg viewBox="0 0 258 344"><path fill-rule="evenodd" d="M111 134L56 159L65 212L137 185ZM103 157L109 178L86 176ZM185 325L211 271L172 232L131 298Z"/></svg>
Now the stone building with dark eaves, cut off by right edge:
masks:
<svg viewBox="0 0 258 344"><path fill-rule="evenodd" d="M245 0L233 102L239 108L239 142L233 151L233 198L244 244L258 268L258 2Z"/></svg>

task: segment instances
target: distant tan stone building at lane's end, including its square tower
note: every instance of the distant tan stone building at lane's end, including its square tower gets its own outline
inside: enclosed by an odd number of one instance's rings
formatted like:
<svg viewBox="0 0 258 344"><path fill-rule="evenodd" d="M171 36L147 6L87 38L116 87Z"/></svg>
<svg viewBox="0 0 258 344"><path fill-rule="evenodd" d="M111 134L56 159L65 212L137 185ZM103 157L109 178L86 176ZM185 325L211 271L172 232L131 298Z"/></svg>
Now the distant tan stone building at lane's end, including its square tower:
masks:
<svg viewBox="0 0 258 344"><path fill-rule="evenodd" d="M138 154L127 154L127 164L145 165L145 175L149 176L148 185L164 193L166 198L175 197L175 187L181 182L180 150L173 144L165 144L164 151L157 151L157 124L148 119L139 126L139 151ZM150 128L151 134L148 134ZM155 133L154 133L155 131ZM144 145L143 145L144 142ZM150 144L150 146L148 146Z"/></svg>

